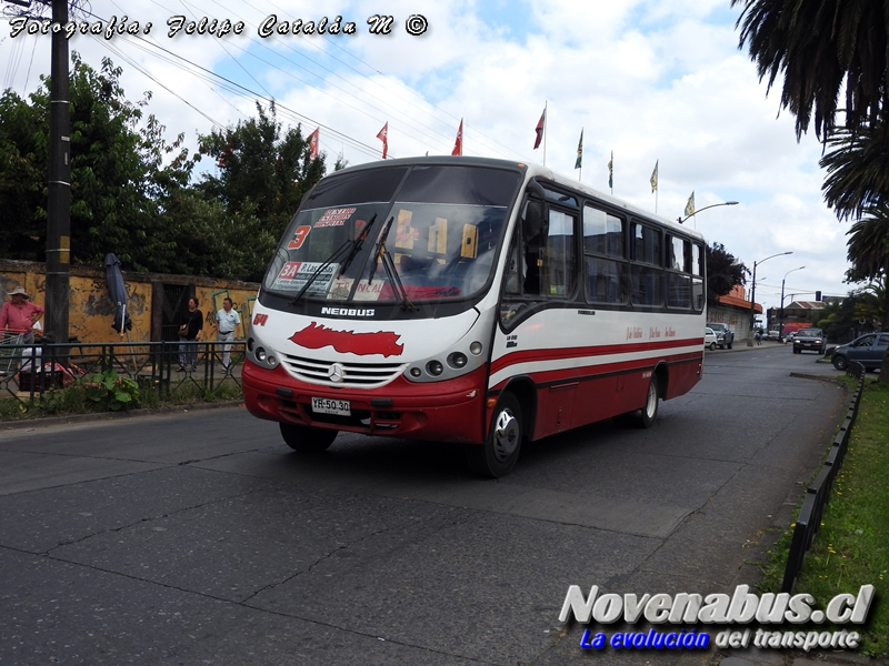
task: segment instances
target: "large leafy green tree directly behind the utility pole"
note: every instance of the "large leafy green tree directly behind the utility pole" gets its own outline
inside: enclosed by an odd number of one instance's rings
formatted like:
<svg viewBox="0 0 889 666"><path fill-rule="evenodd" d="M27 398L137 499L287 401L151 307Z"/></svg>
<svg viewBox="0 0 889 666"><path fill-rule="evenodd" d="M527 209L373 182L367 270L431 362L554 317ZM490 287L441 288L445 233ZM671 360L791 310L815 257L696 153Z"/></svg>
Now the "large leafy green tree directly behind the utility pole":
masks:
<svg viewBox="0 0 889 666"><path fill-rule="evenodd" d="M157 120L143 119L150 94L129 102L111 60L99 71L71 60L72 262L101 265L114 252L131 269L168 270L176 244L156 233L156 219L190 176L182 138L163 141ZM0 209L11 222L0 225L0 252L12 259L46 258L49 100L43 77L30 103L9 90L0 101Z"/></svg>

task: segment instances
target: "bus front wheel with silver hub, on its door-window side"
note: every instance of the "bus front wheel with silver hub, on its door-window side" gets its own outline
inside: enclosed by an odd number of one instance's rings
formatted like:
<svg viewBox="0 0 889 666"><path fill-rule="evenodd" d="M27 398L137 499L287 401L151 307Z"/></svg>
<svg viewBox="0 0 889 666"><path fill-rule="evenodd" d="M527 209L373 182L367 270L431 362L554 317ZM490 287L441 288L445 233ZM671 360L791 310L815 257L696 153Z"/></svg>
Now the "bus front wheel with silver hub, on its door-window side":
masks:
<svg viewBox="0 0 889 666"><path fill-rule="evenodd" d="M506 476L519 460L523 438L521 404L515 395L505 393L493 411L490 432L485 444L466 445L469 471L488 478Z"/></svg>

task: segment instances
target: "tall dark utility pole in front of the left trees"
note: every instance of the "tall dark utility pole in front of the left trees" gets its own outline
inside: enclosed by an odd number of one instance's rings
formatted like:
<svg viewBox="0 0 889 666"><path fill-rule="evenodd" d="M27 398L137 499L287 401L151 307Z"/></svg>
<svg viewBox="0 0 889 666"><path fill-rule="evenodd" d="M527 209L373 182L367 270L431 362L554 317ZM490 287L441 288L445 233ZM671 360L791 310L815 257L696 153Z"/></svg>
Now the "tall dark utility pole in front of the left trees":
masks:
<svg viewBox="0 0 889 666"><path fill-rule="evenodd" d="M52 22L68 23L68 0L52 0ZM71 268L71 113L68 40L60 30L52 32L50 79L46 334L50 342L67 344Z"/></svg>

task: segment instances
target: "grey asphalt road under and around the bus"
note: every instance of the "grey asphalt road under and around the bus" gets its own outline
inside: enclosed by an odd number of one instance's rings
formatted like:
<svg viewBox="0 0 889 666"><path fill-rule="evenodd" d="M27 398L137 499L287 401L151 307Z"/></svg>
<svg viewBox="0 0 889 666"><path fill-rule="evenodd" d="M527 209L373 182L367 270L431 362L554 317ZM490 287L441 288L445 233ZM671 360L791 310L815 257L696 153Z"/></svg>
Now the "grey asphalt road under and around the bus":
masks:
<svg viewBox="0 0 889 666"><path fill-rule="evenodd" d="M845 407L782 345L708 353L647 431L459 450L340 435L303 457L243 408L0 431L0 663L702 663L581 649L568 586L731 592Z"/></svg>

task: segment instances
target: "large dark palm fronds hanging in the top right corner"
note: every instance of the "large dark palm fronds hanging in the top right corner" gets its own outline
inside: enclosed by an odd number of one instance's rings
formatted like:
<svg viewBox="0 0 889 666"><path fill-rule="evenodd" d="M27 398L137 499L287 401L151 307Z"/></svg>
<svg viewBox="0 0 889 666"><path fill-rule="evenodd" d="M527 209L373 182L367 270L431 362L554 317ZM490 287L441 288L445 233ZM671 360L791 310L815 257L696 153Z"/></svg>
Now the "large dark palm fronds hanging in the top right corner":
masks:
<svg viewBox="0 0 889 666"><path fill-rule="evenodd" d="M840 91L845 127L876 121L887 107L889 0L731 0L742 6L736 27L769 89L783 74L781 107L797 117L797 139L809 128L827 140Z"/></svg>

